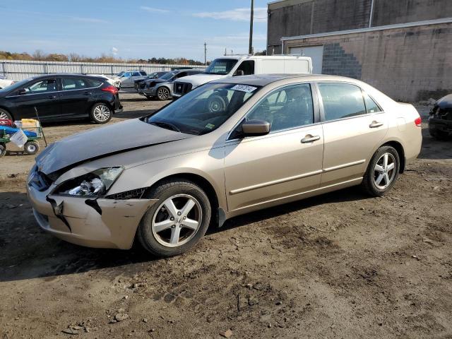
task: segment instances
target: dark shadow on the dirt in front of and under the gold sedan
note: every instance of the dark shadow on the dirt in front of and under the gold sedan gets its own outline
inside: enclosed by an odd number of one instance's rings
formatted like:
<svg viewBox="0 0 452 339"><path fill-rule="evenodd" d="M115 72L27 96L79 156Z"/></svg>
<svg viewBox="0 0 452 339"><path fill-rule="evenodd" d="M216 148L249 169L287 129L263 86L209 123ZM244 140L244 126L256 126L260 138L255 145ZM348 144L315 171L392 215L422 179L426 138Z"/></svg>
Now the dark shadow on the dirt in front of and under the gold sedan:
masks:
<svg viewBox="0 0 452 339"><path fill-rule="evenodd" d="M208 234L246 226L252 222L275 218L323 203L359 201L366 198L369 196L365 196L357 189L345 189L241 215L227 220L223 227L209 230ZM90 249L59 240L40 229L32 215L26 194L20 192L0 193L0 211L1 282L47 278L119 266L127 272L131 270L131 264L165 260L152 256L136 243L131 250L123 251Z"/></svg>

